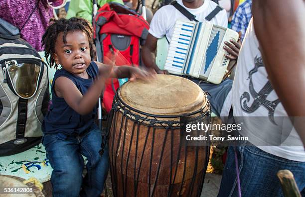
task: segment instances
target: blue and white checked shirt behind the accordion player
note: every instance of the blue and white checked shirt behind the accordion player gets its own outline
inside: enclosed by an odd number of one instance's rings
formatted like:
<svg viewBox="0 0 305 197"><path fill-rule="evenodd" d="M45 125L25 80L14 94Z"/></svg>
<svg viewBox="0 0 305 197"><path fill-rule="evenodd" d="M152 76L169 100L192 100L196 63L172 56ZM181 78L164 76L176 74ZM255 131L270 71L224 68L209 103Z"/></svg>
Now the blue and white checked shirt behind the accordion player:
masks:
<svg viewBox="0 0 305 197"><path fill-rule="evenodd" d="M241 41L244 39L246 29L252 17L251 6L252 0L245 0L244 3L237 7L233 15L231 29L242 32Z"/></svg>

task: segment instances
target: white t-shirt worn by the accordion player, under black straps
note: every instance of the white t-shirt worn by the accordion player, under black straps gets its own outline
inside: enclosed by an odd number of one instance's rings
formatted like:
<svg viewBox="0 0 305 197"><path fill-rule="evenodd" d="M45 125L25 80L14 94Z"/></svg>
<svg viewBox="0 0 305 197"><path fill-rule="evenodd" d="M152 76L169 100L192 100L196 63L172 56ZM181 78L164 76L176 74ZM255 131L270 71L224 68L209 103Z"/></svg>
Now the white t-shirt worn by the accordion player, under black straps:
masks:
<svg viewBox="0 0 305 197"><path fill-rule="evenodd" d="M209 15L217 6L217 4L211 0L204 0L204 3L200 7L190 9L183 5L182 0L177 0L177 2L195 15L196 19L200 22L205 21L205 17ZM158 9L153 15L149 33L156 38L162 38L164 35L166 35L168 41L170 42L174 24L178 19L186 21L188 20L188 18L173 5L165 5ZM210 22L227 28L228 18L226 11L224 9L219 11Z"/></svg>

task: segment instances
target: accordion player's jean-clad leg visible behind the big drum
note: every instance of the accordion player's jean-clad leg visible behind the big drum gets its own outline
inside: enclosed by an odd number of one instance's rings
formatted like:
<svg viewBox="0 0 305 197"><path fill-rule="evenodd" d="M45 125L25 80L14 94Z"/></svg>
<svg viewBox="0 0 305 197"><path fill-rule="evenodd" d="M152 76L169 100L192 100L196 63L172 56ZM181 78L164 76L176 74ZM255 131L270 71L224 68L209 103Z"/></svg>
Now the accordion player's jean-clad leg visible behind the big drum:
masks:
<svg viewBox="0 0 305 197"><path fill-rule="evenodd" d="M204 81L200 81L197 79L192 79L194 83L199 85L199 87L204 91L208 92L208 99L212 106L212 111L217 115L220 116L220 113L223 108L223 104L232 89L233 81L230 79L226 79L220 84L210 84ZM231 106L228 106L230 109Z"/></svg>

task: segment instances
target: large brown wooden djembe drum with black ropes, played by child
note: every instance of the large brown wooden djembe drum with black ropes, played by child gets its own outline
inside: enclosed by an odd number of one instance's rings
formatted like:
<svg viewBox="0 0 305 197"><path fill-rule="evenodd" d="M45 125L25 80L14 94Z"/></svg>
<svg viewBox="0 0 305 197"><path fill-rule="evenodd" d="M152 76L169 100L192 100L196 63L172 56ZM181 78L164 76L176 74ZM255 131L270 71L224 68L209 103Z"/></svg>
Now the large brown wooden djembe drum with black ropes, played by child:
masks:
<svg viewBox="0 0 305 197"><path fill-rule="evenodd" d="M209 146L182 145L182 116L210 117L206 94L190 80L156 75L118 89L108 141L115 197L200 196Z"/></svg>

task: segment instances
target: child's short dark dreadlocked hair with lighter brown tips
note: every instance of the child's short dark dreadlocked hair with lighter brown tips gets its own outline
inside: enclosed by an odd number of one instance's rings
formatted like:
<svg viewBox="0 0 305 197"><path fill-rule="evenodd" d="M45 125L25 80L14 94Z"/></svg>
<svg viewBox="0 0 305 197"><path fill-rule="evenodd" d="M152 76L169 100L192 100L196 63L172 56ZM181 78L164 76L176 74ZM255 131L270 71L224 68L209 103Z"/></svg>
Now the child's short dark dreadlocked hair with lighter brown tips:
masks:
<svg viewBox="0 0 305 197"><path fill-rule="evenodd" d="M66 35L69 31L81 30L85 32L88 36L89 45L90 45L90 55L94 57L93 52L93 29L91 24L83 19L72 17L70 19L60 18L58 20L51 18L50 26L47 28L45 33L42 36L42 46L44 45L44 54L47 62L50 64L50 67L54 65L57 69L55 60L53 59L53 53L55 52L55 41L60 32L63 32L63 42L67 43Z"/></svg>

